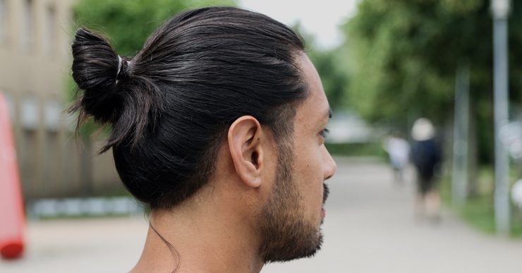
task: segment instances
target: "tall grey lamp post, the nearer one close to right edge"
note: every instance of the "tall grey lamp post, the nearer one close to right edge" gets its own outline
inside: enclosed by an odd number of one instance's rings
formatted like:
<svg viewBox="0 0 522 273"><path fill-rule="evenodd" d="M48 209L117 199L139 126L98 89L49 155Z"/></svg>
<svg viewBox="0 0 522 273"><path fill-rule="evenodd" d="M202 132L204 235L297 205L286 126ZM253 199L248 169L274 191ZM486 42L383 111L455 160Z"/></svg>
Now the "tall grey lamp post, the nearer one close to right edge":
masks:
<svg viewBox="0 0 522 273"><path fill-rule="evenodd" d="M500 139L500 131L509 121L507 18L510 6L510 0L491 1L494 46L494 214L497 232L506 236L510 230L509 156Z"/></svg>

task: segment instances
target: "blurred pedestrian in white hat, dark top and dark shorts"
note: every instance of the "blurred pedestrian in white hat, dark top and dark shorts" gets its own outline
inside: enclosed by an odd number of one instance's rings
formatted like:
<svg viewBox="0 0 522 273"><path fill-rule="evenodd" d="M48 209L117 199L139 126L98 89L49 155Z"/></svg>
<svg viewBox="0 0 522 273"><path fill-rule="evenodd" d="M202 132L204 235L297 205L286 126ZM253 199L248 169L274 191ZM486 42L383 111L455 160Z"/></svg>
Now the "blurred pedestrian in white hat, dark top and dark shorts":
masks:
<svg viewBox="0 0 522 273"><path fill-rule="evenodd" d="M440 196L436 174L442 161L439 143L435 139L435 127L429 119L418 119L413 123L411 136L411 161L417 172L418 195L415 215L426 215L433 222L440 219Z"/></svg>

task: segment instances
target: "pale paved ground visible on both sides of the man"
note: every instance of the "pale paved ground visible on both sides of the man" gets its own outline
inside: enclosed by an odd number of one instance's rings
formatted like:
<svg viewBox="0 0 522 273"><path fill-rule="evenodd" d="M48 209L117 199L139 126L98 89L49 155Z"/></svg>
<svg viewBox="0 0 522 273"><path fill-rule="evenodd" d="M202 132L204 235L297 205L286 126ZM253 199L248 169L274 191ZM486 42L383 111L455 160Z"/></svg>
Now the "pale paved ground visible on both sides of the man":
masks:
<svg viewBox="0 0 522 273"><path fill-rule="evenodd" d="M521 273L522 241L473 231L445 212L432 226L413 220L413 187L396 187L386 166L337 159L329 183L323 249L312 259L262 273ZM144 217L30 222L27 255L0 272L126 272L141 252Z"/></svg>

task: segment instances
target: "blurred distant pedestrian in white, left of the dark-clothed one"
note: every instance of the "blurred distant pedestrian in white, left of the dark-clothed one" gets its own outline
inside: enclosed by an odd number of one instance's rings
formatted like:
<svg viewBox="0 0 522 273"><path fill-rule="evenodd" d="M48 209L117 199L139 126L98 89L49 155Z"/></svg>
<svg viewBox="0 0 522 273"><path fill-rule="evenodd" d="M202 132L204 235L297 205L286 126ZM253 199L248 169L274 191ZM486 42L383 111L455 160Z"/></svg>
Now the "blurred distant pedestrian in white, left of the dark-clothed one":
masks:
<svg viewBox="0 0 522 273"><path fill-rule="evenodd" d="M394 183L404 182L404 169L408 164L410 145L408 141L394 134L384 140L384 150L388 153L391 169L394 171Z"/></svg>

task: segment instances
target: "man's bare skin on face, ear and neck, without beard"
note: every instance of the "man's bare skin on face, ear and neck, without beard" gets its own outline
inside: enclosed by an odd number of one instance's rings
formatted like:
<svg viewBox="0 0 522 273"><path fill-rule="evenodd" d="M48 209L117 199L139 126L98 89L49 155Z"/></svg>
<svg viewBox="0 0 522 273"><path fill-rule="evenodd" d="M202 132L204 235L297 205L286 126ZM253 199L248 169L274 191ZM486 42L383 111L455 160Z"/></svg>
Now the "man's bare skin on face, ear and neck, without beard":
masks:
<svg viewBox="0 0 522 273"><path fill-rule="evenodd" d="M329 105L319 75L304 54L298 61L310 95L297 109L293 164L303 197L303 217L319 230L323 182L336 164L324 147L320 131L329 120ZM138 264L130 272L260 272L257 227L261 207L269 199L276 176L278 150L272 133L252 116L230 127L210 181L193 197L171 210L153 210Z"/></svg>

